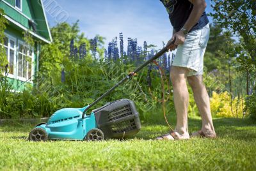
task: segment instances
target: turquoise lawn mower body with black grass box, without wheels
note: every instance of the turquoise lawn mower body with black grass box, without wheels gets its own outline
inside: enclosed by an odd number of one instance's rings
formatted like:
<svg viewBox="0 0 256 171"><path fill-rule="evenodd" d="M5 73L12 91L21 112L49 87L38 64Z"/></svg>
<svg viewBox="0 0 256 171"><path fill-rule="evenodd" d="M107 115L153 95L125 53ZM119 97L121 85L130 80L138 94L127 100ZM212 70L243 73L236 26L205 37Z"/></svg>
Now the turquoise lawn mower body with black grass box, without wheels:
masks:
<svg viewBox="0 0 256 171"><path fill-rule="evenodd" d="M107 103L82 119L87 107L58 110L47 123L40 123L36 128L43 129L49 140L85 140L93 129L102 131L105 138L123 138L140 131L139 114L131 100Z"/></svg>

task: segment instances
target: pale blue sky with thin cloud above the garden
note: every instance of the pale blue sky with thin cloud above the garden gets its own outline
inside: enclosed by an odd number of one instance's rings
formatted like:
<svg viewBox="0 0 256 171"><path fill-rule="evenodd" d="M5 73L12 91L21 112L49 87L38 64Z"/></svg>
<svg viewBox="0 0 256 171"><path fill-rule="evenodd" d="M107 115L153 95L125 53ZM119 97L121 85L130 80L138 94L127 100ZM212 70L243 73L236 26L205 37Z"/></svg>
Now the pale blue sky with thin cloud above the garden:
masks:
<svg viewBox="0 0 256 171"><path fill-rule="evenodd" d="M120 32L124 33L125 47L127 38L137 38L138 44L163 47L163 41L172 36L172 26L163 4L159 0L44 0L45 11L50 26L61 20L58 12L52 13L51 6L58 6L63 20L79 26L87 38L96 34L106 38L106 46ZM211 11L207 0L207 12ZM211 19L210 19L211 20Z"/></svg>

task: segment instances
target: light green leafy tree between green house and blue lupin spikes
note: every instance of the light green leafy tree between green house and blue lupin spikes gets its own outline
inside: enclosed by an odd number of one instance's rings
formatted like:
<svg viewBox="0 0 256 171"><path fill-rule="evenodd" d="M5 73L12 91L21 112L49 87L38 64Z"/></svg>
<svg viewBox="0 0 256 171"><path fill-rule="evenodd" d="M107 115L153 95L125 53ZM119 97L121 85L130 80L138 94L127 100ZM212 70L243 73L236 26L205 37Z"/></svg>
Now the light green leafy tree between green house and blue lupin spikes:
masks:
<svg viewBox="0 0 256 171"><path fill-rule="evenodd" d="M63 22L51 28L52 43L42 46L38 77L49 78L51 83L58 82L61 80L61 71L65 61L73 58L77 60L78 56L90 58L92 54L96 56L96 53L103 57L103 38L97 35L90 43L84 33L80 33L78 22L78 20L74 24Z"/></svg>

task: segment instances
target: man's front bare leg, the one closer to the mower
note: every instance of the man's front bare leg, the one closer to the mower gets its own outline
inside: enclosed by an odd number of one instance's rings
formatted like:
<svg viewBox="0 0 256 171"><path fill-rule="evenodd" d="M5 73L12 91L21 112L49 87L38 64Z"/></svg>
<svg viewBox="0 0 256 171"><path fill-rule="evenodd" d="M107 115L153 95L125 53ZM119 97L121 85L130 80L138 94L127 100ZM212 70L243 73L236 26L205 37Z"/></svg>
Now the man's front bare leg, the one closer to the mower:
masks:
<svg viewBox="0 0 256 171"><path fill-rule="evenodd" d="M188 134L188 103L189 94L186 84L188 74L187 68L172 66L170 77L173 85L174 105L177 113L177 124L175 130L183 135Z"/></svg>

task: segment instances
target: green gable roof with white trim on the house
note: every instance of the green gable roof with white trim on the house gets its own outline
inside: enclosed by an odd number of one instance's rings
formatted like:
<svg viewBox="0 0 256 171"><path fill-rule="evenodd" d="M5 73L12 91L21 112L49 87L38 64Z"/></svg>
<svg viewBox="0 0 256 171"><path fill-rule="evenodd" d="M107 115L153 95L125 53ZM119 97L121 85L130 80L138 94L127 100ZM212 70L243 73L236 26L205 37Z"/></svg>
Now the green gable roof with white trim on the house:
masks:
<svg viewBox="0 0 256 171"><path fill-rule="evenodd" d="M23 6L26 8L22 8L22 11L17 10L12 2L8 0L0 1L0 8L4 9L4 13L6 14L4 17L9 20L10 24L16 26L19 30L29 31L35 38L45 43L51 43L51 31L42 0L23 0ZM31 23L35 26L35 30L31 29Z"/></svg>

